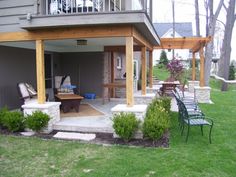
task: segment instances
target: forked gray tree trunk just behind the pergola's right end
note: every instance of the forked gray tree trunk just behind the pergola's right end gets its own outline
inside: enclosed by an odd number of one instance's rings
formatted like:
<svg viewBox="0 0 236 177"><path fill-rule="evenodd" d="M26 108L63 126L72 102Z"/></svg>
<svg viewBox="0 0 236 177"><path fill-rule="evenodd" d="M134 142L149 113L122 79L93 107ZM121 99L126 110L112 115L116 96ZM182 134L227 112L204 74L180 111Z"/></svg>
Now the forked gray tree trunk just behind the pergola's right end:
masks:
<svg viewBox="0 0 236 177"><path fill-rule="evenodd" d="M211 71L211 62L213 56L213 47L214 47L214 35L215 35L215 26L216 20L220 14L220 10L223 6L224 0L220 0L215 13L213 12L213 0L205 0L206 7L206 35L211 36L212 40L206 45L205 49L205 85L209 85L210 80L210 71Z"/></svg>

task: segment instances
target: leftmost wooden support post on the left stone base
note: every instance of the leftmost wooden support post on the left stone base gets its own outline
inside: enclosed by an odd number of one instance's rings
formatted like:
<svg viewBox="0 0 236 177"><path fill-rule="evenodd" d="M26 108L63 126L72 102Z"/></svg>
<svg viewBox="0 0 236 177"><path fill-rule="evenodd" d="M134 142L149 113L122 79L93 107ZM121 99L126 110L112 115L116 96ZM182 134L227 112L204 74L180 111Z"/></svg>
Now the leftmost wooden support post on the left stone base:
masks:
<svg viewBox="0 0 236 177"><path fill-rule="evenodd" d="M36 70L37 70L37 92L38 103L44 104L45 95L45 71L44 71L44 42L36 40Z"/></svg>

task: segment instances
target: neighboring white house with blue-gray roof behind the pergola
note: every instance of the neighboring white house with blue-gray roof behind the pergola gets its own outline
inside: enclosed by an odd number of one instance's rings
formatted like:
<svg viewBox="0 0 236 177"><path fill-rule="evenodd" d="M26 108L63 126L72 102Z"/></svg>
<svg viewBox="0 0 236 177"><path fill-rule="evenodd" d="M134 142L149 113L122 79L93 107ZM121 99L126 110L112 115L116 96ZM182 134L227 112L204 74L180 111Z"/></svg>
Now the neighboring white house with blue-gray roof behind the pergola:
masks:
<svg viewBox="0 0 236 177"><path fill-rule="evenodd" d="M173 23L154 23L155 30L161 38L173 37ZM175 37L193 37L192 22L175 23ZM169 60L173 58L172 50L165 50ZM154 51L155 63L160 59L161 50ZM188 67L191 54L188 49L175 49L175 58L183 61L185 67Z"/></svg>

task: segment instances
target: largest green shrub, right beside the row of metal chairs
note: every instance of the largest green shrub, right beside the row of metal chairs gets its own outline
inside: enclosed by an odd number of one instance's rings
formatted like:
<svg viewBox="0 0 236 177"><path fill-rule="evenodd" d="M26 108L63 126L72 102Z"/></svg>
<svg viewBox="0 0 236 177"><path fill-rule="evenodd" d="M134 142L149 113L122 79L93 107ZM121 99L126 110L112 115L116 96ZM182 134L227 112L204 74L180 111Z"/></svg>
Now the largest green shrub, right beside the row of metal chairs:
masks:
<svg viewBox="0 0 236 177"><path fill-rule="evenodd" d="M164 100L155 99L148 106L143 123L143 134L145 137L153 141L158 140L169 128L170 116L167 111L170 110L169 104L169 99L165 98Z"/></svg>

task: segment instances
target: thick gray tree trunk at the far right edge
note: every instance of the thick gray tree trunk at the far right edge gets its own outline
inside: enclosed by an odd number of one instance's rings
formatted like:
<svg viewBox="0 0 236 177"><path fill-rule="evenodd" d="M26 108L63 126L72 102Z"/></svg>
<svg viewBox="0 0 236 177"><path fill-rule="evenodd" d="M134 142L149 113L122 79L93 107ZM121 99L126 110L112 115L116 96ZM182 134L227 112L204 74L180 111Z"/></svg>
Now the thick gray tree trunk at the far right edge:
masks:
<svg viewBox="0 0 236 177"><path fill-rule="evenodd" d="M230 56L231 56L231 39L234 27L234 22L236 20L235 14L235 0L230 0L228 7L224 5L226 10L226 24L224 39L222 44L221 56L219 61L219 75L225 80L229 79L229 68L230 68ZM226 91L228 89L227 83L223 82L221 90Z"/></svg>

